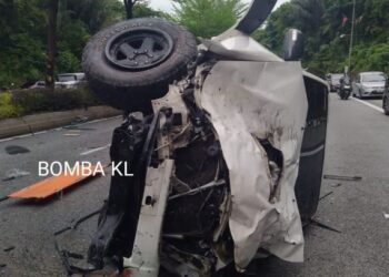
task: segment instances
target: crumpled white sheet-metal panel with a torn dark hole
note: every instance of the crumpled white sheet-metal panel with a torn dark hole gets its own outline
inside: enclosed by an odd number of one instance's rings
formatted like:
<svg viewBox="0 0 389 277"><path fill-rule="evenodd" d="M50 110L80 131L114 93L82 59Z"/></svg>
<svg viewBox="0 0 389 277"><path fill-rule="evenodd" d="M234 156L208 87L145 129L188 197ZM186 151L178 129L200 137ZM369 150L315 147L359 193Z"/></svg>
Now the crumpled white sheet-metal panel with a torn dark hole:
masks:
<svg viewBox="0 0 389 277"><path fill-rule="evenodd" d="M197 80L201 75L200 69ZM308 101L300 63L220 61L199 83L196 99L209 113L229 168L237 267L245 268L260 247L302 261L295 183ZM278 184L259 140L282 153Z"/></svg>

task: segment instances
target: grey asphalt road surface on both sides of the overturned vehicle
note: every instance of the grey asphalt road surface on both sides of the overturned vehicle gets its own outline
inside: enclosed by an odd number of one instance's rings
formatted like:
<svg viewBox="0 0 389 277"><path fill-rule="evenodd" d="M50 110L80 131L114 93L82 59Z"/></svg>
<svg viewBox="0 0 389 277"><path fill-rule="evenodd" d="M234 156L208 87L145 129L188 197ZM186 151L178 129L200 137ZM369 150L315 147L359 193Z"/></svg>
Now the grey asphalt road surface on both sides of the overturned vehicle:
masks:
<svg viewBox="0 0 389 277"><path fill-rule="evenodd" d="M370 105L367 105L369 103ZM377 106L373 109L371 105ZM330 95L325 174L360 176L361 181L323 179L316 218L341 233L306 228L306 261L289 264L275 257L257 264L260 276L388 276L389 273L389 117L379 100L363 103ZM0 177L19 168L30 175L0 183L0 197L40 179L38 161L77 160L107 163L111 132L120 119L83 125L86 130L50 131L0 142ZM89 130L90 129L90 130ZM69 135L69 133L78 133ZM4 147L31 152L9 155ZM80 153L87 153L80 155ZM0 268L2 276L66 276L52 233L101 206L109 176L96 178L43 203L9 199L0 204ZM74 252L86 250L96 218L61 237ZM13 246L9 252L3 249Z"/></svg>

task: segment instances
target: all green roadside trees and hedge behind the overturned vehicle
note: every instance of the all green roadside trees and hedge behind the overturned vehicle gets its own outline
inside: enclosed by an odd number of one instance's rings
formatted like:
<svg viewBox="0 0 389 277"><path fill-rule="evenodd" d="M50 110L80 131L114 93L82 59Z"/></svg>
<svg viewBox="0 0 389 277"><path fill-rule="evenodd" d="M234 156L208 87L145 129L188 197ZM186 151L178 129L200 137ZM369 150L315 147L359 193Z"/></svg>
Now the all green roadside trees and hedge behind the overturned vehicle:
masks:
<svg viewBox="0 0 389 277"><path fill-rule="evenodd" d="M0 93L0 119L66 105L79 107L79 101L92 98L84 89L78 93L68 90L69 99L61 100L41 89L14 92L23 84L44 80L50 1L56 0L0 0L0 91L9 91ZM151 9L146 0L58 0L56 74L81 71L82 50L89 38L128 17L168 18L199 38L211 38L231 27L246 9L241 0L172 2L173 11L167 14ZM357 0L356 7L351 70L389 73L389 1ZM341 72L348 64L351 22L351 0L291 0L271 14L255 38L281 53L286 30L300 29L306 38L303 65L323 73ZM88 101L86 105L97 102Z"/></svg>

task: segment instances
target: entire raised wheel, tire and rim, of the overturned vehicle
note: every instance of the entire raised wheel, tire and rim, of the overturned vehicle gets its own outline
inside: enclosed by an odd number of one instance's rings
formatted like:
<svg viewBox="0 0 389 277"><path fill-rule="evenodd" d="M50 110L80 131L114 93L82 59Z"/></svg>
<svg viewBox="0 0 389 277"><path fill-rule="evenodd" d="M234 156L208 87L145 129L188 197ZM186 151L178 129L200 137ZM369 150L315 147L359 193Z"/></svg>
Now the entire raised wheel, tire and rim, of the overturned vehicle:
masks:
<svg viewBox="0 0 389 277"><path fill-rule="evenodd" d="M162 19L142 18L97 33L83 50L82 68L102 101L132 112L162 98L196 57L193 34Z"/></svg>

